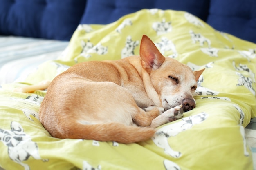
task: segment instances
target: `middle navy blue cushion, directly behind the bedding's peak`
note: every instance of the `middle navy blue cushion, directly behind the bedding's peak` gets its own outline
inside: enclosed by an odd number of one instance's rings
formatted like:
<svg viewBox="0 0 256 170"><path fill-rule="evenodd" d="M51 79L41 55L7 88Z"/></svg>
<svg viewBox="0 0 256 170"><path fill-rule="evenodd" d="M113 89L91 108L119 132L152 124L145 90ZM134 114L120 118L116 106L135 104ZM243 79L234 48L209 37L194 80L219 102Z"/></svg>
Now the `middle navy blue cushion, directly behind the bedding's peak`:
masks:
<svg viewBox="0 0 256 170"><path fill-rule="evenodd" d="M206 20L209 0L87 0L81 24L108 24L144 8L188 11Z"/></svg>

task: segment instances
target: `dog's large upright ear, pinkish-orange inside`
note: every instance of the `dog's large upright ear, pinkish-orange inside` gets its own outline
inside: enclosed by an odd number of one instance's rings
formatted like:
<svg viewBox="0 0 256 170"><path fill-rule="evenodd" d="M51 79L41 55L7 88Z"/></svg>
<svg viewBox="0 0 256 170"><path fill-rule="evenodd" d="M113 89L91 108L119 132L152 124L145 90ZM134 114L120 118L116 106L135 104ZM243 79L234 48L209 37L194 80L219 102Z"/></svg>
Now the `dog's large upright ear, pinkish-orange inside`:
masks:
<svg viewBox="0 0 256 170"><path fill-rule="evenodd" d="M151 69L159 68L165 60L155 44L146 35L142 36L139 55L142 67L148 72Z"/></svg>

